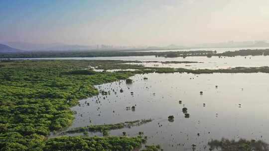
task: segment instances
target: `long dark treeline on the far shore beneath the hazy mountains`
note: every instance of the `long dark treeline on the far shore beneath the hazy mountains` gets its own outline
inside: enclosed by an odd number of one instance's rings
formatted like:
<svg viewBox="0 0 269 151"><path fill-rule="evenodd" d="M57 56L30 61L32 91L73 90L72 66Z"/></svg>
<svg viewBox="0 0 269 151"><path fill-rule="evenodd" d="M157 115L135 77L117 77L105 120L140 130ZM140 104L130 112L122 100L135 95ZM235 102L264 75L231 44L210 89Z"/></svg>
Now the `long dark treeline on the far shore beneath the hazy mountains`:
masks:
<svg viewBox="0 0 269 151"><path fill-rule="evenodd" d="M61 57L126 57L126 56L156 56L156 57L191 57L191 56L262 56L269 55L269 49L239 50L217 53L216 51L177 51L177 52L122 52L122 51L98 51L98 52L24 52L24 53L0 53L1 59L12 58L61 58Z"/></svg>

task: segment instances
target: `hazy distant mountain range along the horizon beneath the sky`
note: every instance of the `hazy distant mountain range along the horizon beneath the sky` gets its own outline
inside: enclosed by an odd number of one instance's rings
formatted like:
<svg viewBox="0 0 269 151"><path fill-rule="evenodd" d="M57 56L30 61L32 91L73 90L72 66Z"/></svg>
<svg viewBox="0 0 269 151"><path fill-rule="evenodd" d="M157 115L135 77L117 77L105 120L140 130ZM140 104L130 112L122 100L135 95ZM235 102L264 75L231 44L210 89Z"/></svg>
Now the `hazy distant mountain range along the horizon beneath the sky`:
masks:
<svg viewBox="0 0 269 151"><path fill-rule="evenodd" d="M203 43L195 45L175 45L171 44L163 47L156 46L112 46L112 45L69 45L63 43L35 44L27 42L1 42L0 52L22 52L24 51L95 51L95 50L163 50L163 49L189 49L189 48L240 48L240 47L269 47L267 41L243 41L243 42L222 42L222 43Z"/></svg>

